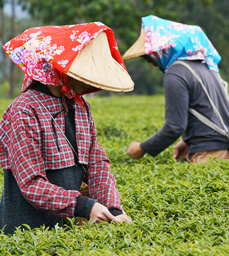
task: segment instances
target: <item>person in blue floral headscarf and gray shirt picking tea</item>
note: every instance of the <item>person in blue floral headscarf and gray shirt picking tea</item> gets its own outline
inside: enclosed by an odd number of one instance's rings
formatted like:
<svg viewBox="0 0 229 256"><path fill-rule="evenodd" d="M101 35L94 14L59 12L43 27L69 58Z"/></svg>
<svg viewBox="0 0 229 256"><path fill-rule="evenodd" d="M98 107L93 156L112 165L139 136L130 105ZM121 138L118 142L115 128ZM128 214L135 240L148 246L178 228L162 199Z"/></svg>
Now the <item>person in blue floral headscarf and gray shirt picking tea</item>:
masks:
<svg viewBox="0 0 229 256"><path fill-rule="evenodd" d="M182 136L174 159L228 159L229 100L219 75L221 57L202 29L154 15L143 17L140 36L123 59L138 56L164 74L166 121L146 141L132 142L127 153L155 157Z"/></svg>

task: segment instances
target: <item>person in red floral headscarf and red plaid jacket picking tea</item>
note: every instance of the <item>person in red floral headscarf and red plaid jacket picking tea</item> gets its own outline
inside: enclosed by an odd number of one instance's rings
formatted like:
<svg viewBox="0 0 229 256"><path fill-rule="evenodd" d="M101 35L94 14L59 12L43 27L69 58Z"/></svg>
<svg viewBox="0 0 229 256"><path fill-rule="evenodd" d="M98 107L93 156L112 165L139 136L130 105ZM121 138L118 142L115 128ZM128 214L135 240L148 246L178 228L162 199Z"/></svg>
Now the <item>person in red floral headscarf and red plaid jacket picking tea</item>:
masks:
<svg viewBox="0 0 229 256"><path fill-rule="evenodd" d="M102 23L35 27L4 50L25 77L0 124L0 228L54 227L64 217L130 221L82 97L133 90L113 31Z"/></svg>

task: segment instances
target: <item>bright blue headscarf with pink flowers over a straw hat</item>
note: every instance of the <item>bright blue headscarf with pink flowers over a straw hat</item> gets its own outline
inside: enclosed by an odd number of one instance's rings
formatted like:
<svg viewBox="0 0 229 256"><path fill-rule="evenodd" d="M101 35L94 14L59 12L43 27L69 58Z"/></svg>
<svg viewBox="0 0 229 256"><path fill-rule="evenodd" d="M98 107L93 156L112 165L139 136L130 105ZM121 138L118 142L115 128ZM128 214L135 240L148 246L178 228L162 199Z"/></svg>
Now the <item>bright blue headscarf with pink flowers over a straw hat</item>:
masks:
<svg viewBox="0 0 229 256"><path fill-rule="evenodd" d="M145 30L145 54L163 71L176 59L200 59L210 70L219 72L217 65L221 57L199 26L148 15L142 17L142 28Z"/></svg>

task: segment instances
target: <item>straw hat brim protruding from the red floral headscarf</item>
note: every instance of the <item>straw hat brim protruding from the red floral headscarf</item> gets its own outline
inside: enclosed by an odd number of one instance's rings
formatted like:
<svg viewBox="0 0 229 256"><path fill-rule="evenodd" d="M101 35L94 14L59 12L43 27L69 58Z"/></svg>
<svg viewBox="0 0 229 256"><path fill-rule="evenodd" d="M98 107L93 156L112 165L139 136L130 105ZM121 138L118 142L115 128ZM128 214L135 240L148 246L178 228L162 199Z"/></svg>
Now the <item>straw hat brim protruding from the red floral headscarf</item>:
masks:
<svg viewBox="0 0 229 256"><path fill-rule="evenodd" d="M115 92L129 92L134 82L112 57L105 32L99 33L72 62L67 75L90 86Z"/></svg>

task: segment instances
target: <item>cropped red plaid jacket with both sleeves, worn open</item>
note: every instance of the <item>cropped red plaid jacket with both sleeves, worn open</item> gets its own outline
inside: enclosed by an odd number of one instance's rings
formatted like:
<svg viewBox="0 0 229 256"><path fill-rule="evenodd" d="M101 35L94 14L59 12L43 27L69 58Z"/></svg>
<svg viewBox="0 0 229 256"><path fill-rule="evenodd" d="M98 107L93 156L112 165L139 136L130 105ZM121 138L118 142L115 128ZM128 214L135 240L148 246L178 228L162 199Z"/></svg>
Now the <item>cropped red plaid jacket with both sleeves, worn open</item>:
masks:
<svg viewBox="0 0 229 256"><path fill-rule="evenodd" d="M28 92L39 98L52 115L63 109L59 98L35 90ZM85 181L90 197L108 208L122 210L109 159L96 139L90 105L83 101L83 106L76 101L71 104L75 108L79 162L86 165ZM64 132L64 112L56 121ZM59 150L49 114L34 96L19 95L6 109L0 124L0 161L3 170L12 170L22 195L35 208L60 217L73 217L81 194L50 183L45 174L46 169L74 165L71 147L61 132L56 131Z"/></svg>

